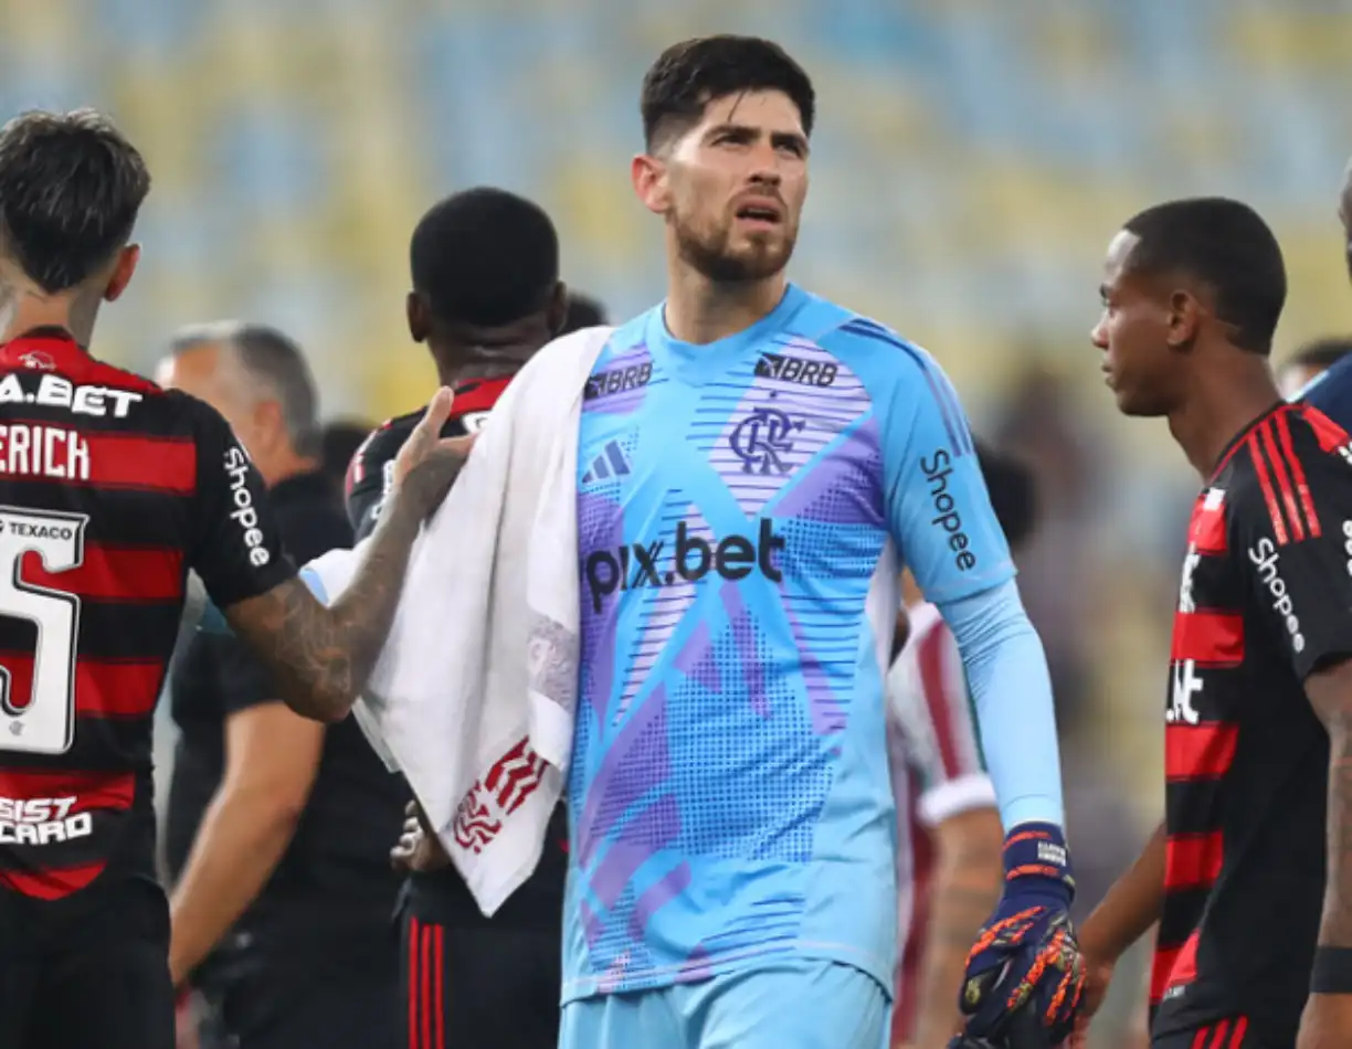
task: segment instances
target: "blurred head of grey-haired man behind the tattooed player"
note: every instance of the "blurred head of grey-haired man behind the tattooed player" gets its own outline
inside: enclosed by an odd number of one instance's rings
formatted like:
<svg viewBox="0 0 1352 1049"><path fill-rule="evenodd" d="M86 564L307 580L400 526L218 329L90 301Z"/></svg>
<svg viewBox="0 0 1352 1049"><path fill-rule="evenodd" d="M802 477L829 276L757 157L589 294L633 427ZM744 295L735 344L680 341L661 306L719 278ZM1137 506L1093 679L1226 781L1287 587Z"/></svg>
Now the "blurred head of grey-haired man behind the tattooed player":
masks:
<svg viewBox="0 0 1352 1049"><path fill-rule="evenodd" d="M280 331L235 322L183 328L155 379L226 416L269 484L318 461L314 379L300 349Z"/></svg>

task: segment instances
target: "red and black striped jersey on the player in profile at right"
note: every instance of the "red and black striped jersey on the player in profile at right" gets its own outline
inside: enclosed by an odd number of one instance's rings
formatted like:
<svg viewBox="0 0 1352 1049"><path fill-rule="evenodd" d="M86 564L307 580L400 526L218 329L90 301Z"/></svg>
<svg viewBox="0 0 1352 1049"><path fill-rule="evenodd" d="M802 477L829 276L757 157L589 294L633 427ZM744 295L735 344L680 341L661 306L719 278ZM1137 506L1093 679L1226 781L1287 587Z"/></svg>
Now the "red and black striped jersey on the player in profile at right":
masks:
<svg viewBox="0 0 1352 1049"><path fill-rule="evenodd" d="M1305 695L1352 656L1352 449L1280 406L1192 508L1165 704L1155 1034L1242 1017L1295 1042L1325 871L1328 735Z"/></svg>

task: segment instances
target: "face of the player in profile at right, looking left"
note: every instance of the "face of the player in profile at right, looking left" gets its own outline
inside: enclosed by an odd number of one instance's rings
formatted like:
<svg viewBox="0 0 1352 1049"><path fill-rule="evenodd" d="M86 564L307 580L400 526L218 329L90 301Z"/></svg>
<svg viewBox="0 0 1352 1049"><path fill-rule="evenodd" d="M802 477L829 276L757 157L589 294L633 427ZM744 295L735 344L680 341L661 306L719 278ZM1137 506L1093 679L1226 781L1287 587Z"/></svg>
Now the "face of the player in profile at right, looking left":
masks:
<svg viewBox="0 0 1352 1049"><path fill-rule="evenodd" d="M1090 339L1103 351L1103 381L1124 415L1168 415L1182 396L1182 360L1195 318L1176 295L1148 274L1133 272L1133 233L1109 245L1099 297L1103 312Z"/></svg>

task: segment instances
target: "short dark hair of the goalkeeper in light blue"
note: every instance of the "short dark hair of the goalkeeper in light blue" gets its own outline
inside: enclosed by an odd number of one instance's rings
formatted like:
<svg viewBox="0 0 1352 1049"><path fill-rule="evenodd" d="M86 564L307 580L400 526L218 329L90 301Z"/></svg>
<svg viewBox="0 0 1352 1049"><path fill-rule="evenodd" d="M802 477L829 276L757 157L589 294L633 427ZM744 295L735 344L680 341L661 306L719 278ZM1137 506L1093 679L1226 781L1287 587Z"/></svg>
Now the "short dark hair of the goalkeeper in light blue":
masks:
<svg viewBox="0 0 1352 1049"><path fill-rule="evenodd" d="M750 91L781 91L813 134L817 95L811 77L783 47L760 36L696 36L662 51L644 77L639 109L649 150L664 135L698 123L704 107Z"/></svg>

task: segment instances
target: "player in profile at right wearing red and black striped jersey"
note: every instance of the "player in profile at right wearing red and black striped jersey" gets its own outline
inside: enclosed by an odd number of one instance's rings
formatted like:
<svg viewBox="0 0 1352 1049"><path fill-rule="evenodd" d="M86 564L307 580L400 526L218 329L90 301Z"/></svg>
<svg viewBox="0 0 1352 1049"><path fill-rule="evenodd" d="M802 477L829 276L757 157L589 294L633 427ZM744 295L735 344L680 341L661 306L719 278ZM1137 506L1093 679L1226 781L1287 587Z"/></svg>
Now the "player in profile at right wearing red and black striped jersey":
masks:
<svg viewBox="0 0 1352 1049"><path fill-rule="evenodd" d="M1325 799L1352 804L1349 438L1282 401L1267 358L1284 268L1248 207L1142 212L1102 292L1094 342L1118 407L1167 416L1203 487L1174 615L1165 819L1084 923L1090 996L1157 921L1155 1045L1290 1046L1320 1025L1345 1040L1352 981L1328 964L1352 948L1352 829Z"/></svg>

